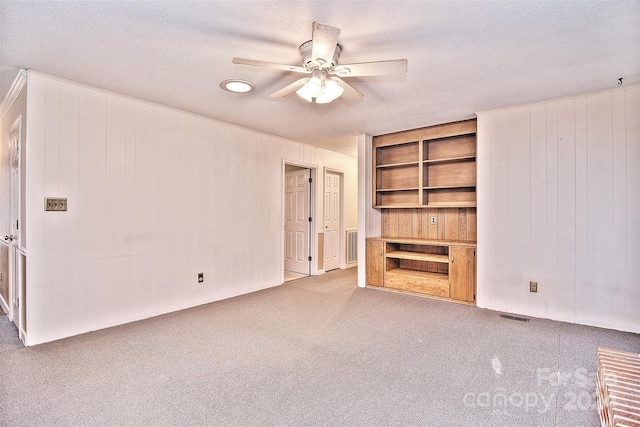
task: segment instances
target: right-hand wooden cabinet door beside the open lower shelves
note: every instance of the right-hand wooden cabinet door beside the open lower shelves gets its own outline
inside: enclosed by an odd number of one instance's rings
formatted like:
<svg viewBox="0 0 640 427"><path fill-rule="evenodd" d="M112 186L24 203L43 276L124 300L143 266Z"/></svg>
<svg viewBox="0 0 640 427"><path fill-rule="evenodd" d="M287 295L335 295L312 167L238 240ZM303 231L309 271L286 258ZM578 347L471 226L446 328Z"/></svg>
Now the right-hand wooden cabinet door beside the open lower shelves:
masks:
<svg viewBox="0 0 640 427"><path fill-rule="evenodd" d="M449 287L453 299L473 302L476 293L476 249L449 247Z"/></svg>

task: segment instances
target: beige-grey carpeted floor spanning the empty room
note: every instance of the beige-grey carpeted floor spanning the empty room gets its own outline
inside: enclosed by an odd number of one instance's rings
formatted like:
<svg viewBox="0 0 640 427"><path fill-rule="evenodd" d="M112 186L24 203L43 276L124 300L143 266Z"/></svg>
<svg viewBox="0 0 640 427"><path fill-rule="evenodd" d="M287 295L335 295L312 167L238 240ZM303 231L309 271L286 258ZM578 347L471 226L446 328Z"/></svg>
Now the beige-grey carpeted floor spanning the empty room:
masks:
<svg viewBox="0 0 640 427"><path fill-rule="evenodd" d="M360 289L355 268L31 348L0 339L2 426L597 426L596 348L640 352L636 334Z"/></svg>

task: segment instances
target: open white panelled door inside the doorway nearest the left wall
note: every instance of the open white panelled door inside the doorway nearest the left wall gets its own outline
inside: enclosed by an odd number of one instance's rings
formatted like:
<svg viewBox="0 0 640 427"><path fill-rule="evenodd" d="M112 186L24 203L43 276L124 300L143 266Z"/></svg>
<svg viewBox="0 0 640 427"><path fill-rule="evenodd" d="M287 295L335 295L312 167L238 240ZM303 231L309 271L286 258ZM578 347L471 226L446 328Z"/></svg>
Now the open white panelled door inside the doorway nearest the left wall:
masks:
<svg viewBox="0 0 640 427"><path fill-rule="evenodd" d="M309 274L310 171L285 172L284 180L284 269Z"/></svg>

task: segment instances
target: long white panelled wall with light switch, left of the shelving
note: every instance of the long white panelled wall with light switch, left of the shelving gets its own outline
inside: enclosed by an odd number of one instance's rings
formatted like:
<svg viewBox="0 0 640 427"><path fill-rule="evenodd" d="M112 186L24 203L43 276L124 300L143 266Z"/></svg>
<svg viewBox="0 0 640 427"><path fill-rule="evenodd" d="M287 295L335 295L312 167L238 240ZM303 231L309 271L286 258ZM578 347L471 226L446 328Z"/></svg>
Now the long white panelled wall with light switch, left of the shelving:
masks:
<svg viewBox="0 0 640 427"><path fill-rule="evenodd" d="M27 85L28 345L280 284L283 158L343 170L357 224L354 157L34 72Z"/></svg>

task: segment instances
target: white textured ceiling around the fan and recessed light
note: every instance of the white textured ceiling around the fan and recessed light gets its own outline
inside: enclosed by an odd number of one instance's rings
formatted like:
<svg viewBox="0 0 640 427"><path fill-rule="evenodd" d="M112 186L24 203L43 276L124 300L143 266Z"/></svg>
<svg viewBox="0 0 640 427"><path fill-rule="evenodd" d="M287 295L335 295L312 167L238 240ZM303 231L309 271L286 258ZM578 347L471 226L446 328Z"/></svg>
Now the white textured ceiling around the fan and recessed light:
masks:
<svg viewBox="0 0 640 427"><path fill-rule="evenodd" d="M342 30L340 63L406 58L407 75L312 105L269 99L299 75L231 63L299 65L313 21ZM638 1L0 0L0 37L0 98L30 68L353 155L358 134L640 82Z"/></svg>

